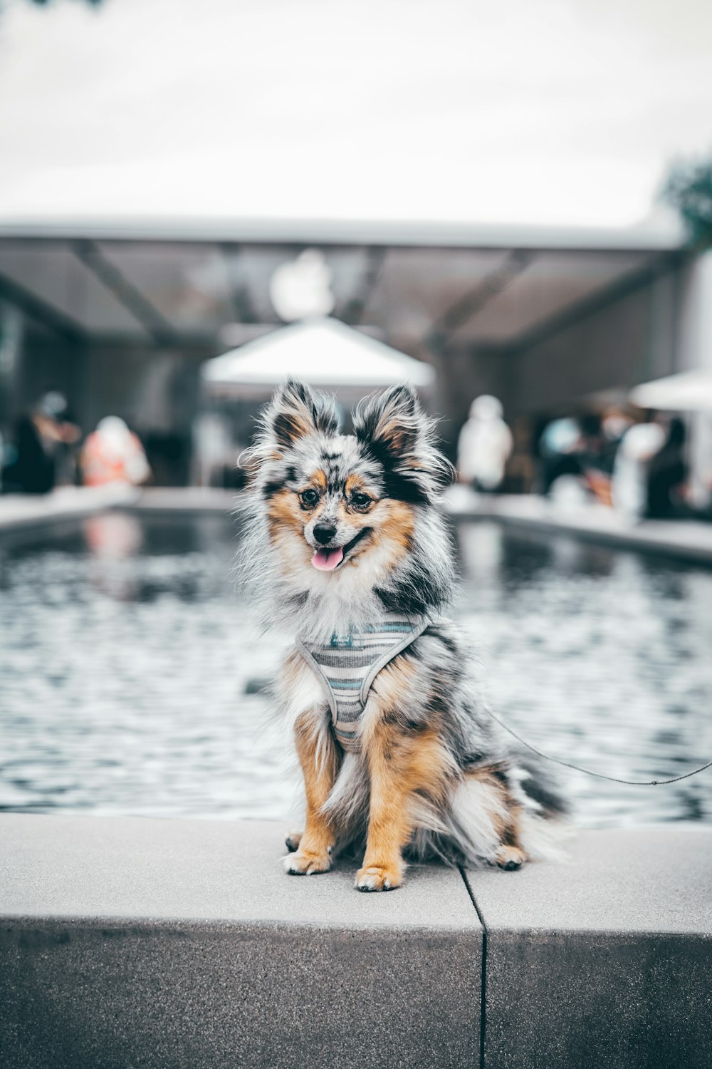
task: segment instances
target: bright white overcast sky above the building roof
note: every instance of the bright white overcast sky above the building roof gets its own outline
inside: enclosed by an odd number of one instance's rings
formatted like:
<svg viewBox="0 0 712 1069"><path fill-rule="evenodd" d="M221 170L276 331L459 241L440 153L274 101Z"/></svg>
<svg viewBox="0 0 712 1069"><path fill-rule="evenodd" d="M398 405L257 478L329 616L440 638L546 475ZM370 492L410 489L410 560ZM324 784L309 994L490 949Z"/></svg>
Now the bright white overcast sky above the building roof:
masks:
<svg viewBox="0 0 712 1069"><path fill-rule="evenodd" d="M712 148L709 0L2 0L0 219L627 226Z"/></svg>

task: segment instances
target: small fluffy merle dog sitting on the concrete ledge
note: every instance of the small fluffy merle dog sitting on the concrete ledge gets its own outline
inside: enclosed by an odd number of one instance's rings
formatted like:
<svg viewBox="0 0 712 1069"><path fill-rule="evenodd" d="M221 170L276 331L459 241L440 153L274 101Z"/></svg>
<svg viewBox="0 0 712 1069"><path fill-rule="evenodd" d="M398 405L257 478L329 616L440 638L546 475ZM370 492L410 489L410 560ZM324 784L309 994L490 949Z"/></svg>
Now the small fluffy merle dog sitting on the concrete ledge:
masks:
<svg viewBox="0 0 712 1069"><path fill-rule="evenodd" d="M248 455L241 570L298 638L278 696L306 822L285 868L326 872L362 845L360 890L399 886L404 855L519 868L552 852L564 807L503 741L439 615L454 551L434 502L450 466L408 386L362 402L353 429L339 434L333 401L289 381Z"/></svg>

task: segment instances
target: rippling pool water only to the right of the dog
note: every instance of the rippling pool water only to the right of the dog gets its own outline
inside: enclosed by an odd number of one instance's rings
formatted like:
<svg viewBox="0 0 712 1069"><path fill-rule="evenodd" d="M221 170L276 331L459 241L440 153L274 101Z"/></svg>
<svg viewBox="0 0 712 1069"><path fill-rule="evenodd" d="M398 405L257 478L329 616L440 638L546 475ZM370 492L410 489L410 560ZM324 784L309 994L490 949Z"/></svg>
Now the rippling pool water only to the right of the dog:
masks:
<svg viewBox="0 0 712 1069"><path fill-rule="evenodd" d="M706 760L712 575L517 531L501 536L506 552L488 571L477 552L490 537L471 525L459 531L458 610L485 662L492 701L512 727L538 748L621 778L666 778ZM650 789L573 772L561 778L586 823L712 812L708 773Z"/></svg>

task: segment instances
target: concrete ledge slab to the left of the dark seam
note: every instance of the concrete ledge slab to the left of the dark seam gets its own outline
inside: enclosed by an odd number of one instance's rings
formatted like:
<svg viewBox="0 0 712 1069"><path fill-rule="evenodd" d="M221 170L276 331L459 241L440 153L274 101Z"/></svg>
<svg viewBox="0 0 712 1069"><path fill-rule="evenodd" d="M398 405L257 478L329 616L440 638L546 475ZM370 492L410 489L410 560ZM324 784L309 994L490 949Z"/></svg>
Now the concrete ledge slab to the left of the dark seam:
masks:
<svg viewBox="0 0 712 1069"><path fill-rule="evenodd" d="M288 878L283 827L0 818L0 1064L471 1066L481 929L457 871Z"/></svg>

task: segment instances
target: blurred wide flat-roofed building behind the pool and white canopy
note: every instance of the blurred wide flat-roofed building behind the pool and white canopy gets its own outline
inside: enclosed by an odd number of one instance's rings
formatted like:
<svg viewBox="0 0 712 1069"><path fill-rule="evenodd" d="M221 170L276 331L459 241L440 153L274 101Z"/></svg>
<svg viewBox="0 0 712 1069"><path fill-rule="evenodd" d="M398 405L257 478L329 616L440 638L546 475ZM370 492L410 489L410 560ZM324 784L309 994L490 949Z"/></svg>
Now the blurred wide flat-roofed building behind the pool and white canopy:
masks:
<svg viewBox="0 0 712 1069"><path fill-rule="evenodd" d="M692 258L675 233L4 226L0 432L60 390L84 432L121 416L157 481L189 480L201 365L284 324L273 280L307 248L329 266L334 319L433 366L450 447L478 393L503 401L517 433L712 366L712 259Z"/></svg>

